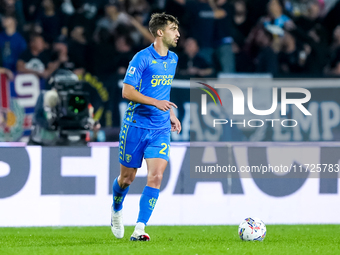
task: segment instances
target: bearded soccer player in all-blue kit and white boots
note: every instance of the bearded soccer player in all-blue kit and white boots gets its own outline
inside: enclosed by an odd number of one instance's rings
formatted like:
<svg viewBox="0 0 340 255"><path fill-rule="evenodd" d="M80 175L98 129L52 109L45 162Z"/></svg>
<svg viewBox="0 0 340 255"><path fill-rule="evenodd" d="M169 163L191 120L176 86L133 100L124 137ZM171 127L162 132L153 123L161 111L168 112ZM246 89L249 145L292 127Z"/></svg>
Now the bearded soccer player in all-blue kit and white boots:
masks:
<svg viewBox="0 0 340 255"><path fill-rule="evenodd" d="M175 17L165 13L151 16L149 30L155 41L133 57L123 81L123 98L130 103L119 138L120 175L113 183L111 230L117 238L124 236L122 204L144 157L148 168L147 184L130 240L150 240L144 228L157 202L169 160L170 131L181 131L181 123L172 109L177 106L169 101L178 61L169 48L177 45L178 24Z"/></svg>

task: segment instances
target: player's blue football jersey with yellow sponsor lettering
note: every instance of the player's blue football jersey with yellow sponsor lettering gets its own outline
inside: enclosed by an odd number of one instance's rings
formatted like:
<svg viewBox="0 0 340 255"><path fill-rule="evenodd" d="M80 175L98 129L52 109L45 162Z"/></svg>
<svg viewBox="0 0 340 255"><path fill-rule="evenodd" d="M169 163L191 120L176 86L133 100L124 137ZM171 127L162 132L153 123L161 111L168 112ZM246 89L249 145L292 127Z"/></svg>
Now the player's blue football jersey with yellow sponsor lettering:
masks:
<svg viewBox="0 0 340 255"><path fill-rule="evenodd" d="M170 101L177 62L178 56L174 52L168 51L168 55L162 57L151 44L130 61L123 82L134 86L145 96ZM148 129L169 128L170 111L164 112L155 106L131 101L125 112L124 123Z"/></svg>

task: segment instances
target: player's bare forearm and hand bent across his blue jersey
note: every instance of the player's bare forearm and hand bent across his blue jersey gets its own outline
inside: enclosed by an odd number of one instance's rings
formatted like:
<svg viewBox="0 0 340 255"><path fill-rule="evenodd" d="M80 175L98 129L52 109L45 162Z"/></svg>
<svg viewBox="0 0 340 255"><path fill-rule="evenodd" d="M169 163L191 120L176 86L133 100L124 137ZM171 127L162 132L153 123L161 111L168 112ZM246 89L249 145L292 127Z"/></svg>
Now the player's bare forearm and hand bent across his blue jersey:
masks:
<svg viewBox="0 0 340 255"><path fill-rule="evenodd" d="M124 84L123 92L122 92L123 98L126 98L138 104L153 105L162 111L170 110L171 106L174 106L177 108L177 105L175 105L172 102L169 102L167 100L157 100L155 98L145 96L139 91L137 91L134 86L127 84L127 83L123 83L123 84Z"/></svg>

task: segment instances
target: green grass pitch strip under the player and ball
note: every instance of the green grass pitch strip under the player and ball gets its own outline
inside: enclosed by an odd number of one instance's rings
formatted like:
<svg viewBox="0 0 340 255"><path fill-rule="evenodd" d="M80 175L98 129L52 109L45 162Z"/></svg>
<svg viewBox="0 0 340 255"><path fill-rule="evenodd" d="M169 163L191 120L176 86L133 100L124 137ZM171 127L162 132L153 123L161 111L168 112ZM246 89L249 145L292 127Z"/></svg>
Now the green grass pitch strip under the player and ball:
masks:
<svg viewBox="0 0 340 255"><path fill-rule="evenodd" d="M237 226L148 226L150 242L115 239L110 227L0 228L0 254L340 254L340 225L268 225L263 242Z"/></svg>

